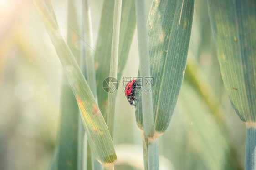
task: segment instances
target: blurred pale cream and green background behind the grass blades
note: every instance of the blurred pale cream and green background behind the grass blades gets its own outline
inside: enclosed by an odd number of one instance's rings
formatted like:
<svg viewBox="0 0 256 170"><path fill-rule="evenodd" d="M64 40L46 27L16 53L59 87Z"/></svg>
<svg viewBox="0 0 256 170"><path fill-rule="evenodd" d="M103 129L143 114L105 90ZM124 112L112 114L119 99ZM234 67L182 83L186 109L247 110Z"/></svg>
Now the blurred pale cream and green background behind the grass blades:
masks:
<svg viewBox="0 0 256 170"><path fill-rule="evenodd" d="M52 0L52 4L65 37L68 1ZM91 0L94 42L102 5L103 0ZM135 32L123 76L136 77L138 64ZM0 0L0 170L49 167L60 119L61 69L33 3ZM118 89L115 108L116 169L141 170L142 140L135 109L122 90ZM169 126L159 138L160 170L243 169L245 125L221 80L205 0L195 0L187 70Z"/></svg>

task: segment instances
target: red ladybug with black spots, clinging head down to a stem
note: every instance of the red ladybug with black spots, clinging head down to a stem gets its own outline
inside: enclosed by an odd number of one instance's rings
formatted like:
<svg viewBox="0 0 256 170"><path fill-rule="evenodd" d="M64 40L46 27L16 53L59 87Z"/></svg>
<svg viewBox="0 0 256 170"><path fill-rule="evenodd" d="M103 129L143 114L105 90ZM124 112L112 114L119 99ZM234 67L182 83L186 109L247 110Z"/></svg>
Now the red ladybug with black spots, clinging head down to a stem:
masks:
<svg viewBox="0 0 256 170"><path fill-rule="evenodd" d="M125 87L125 96L127 97L127 100L129 101L130 105L134 105L133 101L138 100L134 97L136 88L140 88L138 86L139 84L137 83L137 79L135 79L135 80L129 81Z"/></svg>

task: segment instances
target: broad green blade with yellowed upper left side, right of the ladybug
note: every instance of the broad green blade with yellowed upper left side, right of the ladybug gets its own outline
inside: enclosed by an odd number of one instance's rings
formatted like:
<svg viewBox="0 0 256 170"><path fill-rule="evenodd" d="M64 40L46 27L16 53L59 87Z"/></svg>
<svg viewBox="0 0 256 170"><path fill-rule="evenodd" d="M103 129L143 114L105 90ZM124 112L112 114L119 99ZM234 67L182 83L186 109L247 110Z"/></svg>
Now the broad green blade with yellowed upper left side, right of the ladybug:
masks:
<svg viewBox="0 0 256 170"><path fill-rule="evenodd" d="M156 137L169 126L184 77L194 0L154 0L148 17L148 41L153 77ZM144 68L140 68L144 69ZM144 82L145 83L145 82ZM136 102L140 107L140 102ZM143 124L136 109L137 125Z"/></svg>

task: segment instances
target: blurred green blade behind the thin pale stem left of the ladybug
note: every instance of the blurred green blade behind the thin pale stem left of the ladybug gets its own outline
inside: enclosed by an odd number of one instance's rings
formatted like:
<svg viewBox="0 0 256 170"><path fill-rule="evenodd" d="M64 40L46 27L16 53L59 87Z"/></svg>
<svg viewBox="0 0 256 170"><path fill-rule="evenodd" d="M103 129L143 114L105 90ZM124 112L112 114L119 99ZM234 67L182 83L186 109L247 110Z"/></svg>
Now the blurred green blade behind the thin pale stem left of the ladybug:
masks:
<svg viewBox="0 0 256 170"><path fill-rule="evenodd" d="M97 80L98 105L106 120L105 108L108 105L108 93L103 90L102 82L109 76L110 56L113 30L114 0L105 0L102 10L102 18L96 45L95 69ZM126 63L130 46L135 31L134 0L123 0L118 50L118 80L120 80ZM109 101L114 102L114 101Z"/></svg>

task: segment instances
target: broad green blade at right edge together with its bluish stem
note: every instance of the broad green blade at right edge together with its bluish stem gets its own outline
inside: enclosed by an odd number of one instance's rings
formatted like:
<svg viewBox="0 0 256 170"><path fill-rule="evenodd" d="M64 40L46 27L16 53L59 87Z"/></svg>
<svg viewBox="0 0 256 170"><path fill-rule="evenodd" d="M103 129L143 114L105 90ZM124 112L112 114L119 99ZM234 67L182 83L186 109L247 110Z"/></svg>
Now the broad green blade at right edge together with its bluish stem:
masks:
<svg viewBox="0 0 256 170"><path fill-rule="evenodd" d="M256 167L255 9L255 0L208 0L224 86L237 115L246 123L246 170Z"/></svg>

